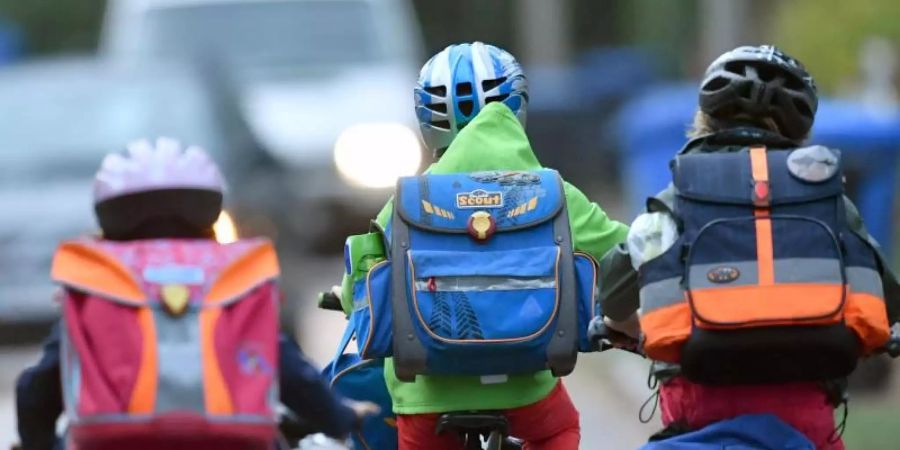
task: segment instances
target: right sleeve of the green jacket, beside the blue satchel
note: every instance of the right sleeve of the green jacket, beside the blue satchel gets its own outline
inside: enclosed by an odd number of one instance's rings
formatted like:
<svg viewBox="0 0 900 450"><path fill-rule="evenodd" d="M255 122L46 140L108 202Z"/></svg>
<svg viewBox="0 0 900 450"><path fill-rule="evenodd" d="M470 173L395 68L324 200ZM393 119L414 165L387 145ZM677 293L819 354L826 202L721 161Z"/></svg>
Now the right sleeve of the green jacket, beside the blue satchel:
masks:
<svg viewBox="0 0 900 450"><path fill-rule="evenodd" d="M600 206L581 191L565 183L566 207L575 250L599 260L609 249L625 240L628 227L609 218Z"/></svg>

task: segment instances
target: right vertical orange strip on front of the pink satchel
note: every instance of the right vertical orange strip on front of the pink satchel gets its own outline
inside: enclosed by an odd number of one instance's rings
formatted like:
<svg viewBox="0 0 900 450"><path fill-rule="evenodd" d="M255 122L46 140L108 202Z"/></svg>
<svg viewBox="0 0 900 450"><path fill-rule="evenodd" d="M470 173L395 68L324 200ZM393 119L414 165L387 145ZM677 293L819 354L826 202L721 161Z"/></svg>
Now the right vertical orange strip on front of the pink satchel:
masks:
<svg viewBox="0 0 900 450"><path fill-rule="evenodd" d="M209 414L232 414L234 405L219 367L216 354L216 322L222 310L203 308L200 311L200 339L203 352L203 397Z"/></svg>

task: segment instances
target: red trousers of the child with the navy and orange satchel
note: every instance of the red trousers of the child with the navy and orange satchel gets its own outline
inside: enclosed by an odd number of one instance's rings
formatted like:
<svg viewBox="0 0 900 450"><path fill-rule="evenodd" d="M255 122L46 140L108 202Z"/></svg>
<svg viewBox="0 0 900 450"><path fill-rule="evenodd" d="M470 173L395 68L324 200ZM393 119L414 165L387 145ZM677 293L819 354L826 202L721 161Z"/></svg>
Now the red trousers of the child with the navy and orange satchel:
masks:
<svg viewBox="0 0 900 450"><path fill-rule="evenodd" d="M675 378L660 387L663 425L683 422L703 428L742 414L769 413L797 429L819 450L844 450L835 429L834 407L816 383L765 386L704 386Z"/></svg>

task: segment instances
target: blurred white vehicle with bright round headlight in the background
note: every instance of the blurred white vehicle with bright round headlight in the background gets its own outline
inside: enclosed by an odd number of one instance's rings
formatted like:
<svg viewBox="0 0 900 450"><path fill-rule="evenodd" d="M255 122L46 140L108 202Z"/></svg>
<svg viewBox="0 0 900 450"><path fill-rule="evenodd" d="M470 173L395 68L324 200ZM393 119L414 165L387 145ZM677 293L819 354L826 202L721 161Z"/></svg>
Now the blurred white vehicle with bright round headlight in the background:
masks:
<svg viewBox="0 0 900 450"><path fill-rule="evenodd" d="M314 235L338 213L370 215L422 165L420 43L409 0L111 0L101 49L227 71L250 128L287 169L290 202L318 219L285 220Z"/></svg>

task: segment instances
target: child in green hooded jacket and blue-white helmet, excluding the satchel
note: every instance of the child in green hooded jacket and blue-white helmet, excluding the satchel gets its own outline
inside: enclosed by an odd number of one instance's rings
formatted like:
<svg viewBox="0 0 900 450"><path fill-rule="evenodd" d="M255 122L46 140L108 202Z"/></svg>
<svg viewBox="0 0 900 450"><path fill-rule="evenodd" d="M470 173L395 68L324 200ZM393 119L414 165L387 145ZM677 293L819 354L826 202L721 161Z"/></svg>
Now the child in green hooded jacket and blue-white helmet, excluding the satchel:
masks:
<svg viewBox="0 0 900 450"><path fill-rule="evenodd" d="M461 95L455 88L461 83L476 92ZM509 53L480 42L447 47L423 67L416 102L423 137L437 157L428 173L542 168L523 128L524 74ZM565 195L576 251L599 259L626 238L628 228L609 219L576 187L565 183ZM376 222L384 227L392 213L389 202ZM351 301L344 297L349 313ZM578 448L578 412L549 371L509 376L496 384L472 376L419 376L406 383L396 378L389 359L384 374L401 450L457 449L456 436L435 434L439 415L485 410L504 411L510 434L523 439L526 449Z"/></svg>

